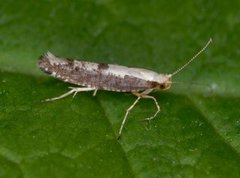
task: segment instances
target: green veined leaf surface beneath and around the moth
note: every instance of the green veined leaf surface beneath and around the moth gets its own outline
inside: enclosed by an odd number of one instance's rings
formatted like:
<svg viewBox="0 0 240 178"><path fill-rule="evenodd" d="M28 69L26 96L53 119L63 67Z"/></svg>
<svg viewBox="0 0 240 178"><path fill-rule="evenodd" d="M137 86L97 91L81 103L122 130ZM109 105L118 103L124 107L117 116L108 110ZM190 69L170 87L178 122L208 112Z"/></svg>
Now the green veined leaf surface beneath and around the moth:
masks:
<svg viewBox="0 0 240 178"><path fill-rule="evenodd" d="M0 6L0 177L240 177L239 2L12 1ZM172 73L116 139L128 93L79 93L43 74L41 54ZM179 82L179 83L178 83Z"/></svg>

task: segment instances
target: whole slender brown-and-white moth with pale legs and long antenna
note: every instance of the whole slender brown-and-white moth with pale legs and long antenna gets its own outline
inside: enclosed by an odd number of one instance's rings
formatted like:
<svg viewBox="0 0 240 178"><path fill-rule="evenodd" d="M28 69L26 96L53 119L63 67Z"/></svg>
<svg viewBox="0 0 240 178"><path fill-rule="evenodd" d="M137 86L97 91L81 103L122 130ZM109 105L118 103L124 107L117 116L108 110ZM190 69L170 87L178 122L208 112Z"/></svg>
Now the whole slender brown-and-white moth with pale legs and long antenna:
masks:
<svg viewBox="0 0 240 178"><path fill-rule="evenodd" d="M78 92L82 91L94 91L93 96L96 95L98 90L130 92L137 96L137 99L125 113L118 131L118 138L120 138L127 116L138 101L141 98L148 98L154 101L157 110L153 116L145 120L154 119L160 112L160 106L156 98L148 94L153 90L169 89L172 84L172 77L188 66L211 42L212 39L209 39L207 44L198 53L172 74L159 74L143 68L132 68L115 64L72 60L56 57L48 52L40 57L39 68L55 78L81 87L69 87L71 90L67 93L55 98L46 99L45 101L54 101L71 94L74 97Z"/></svg>

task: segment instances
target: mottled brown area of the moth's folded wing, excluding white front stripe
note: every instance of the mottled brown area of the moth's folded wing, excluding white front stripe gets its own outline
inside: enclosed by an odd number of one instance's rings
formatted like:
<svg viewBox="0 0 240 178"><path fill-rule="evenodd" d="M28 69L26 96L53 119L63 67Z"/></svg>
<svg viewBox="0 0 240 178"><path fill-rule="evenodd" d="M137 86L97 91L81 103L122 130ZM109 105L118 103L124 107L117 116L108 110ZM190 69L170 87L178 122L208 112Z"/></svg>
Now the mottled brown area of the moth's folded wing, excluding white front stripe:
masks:
<svg viewBox="0 0 240 178"><path fill-rule="evenodd" d="M111 65L58 58L51 53L41 56L39 60L39 68L45 73L80 86L120 92L152 88L153 82L109 73L109 67Z"/></svg>

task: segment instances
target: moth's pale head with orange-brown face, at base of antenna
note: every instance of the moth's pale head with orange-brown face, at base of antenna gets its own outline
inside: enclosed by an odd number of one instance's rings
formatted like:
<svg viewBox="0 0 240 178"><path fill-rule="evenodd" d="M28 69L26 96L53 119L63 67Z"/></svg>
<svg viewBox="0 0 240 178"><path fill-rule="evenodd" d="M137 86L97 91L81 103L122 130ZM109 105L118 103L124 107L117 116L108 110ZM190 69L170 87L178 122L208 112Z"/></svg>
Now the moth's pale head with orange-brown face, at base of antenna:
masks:
<svg viewBox="0 0 240 178"><path fill-rule="evenodd" d="M156 90L167 90L172 85L172 75L160 74L158 82L153 82L153 88Z"/></svg>

